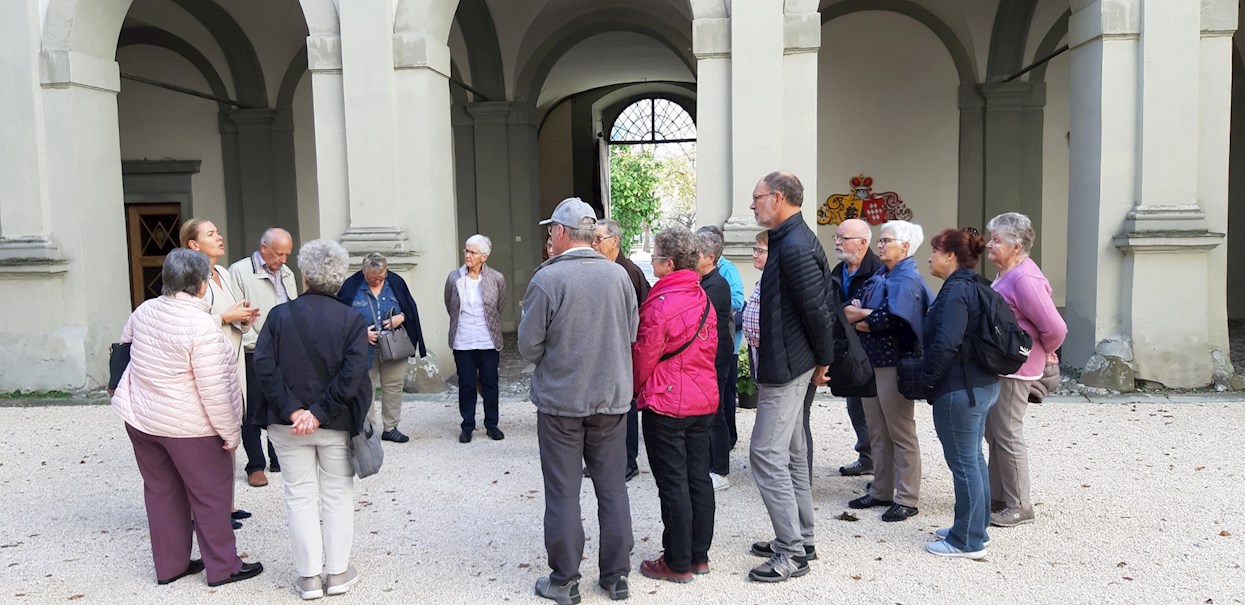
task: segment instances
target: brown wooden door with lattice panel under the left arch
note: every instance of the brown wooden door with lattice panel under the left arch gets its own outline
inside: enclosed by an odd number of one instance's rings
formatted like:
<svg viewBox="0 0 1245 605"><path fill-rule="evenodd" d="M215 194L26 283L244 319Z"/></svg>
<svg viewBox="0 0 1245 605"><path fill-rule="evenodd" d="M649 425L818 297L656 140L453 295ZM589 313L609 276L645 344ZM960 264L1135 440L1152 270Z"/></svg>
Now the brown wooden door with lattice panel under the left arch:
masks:
<svg viewBox="0 0 1245 605"><path fill-rule="evenodd" d="M138 307L159 296L164 256L176 250L182 227L182 204L126 204L126 240L129 243L129 300Z"/></svg>

